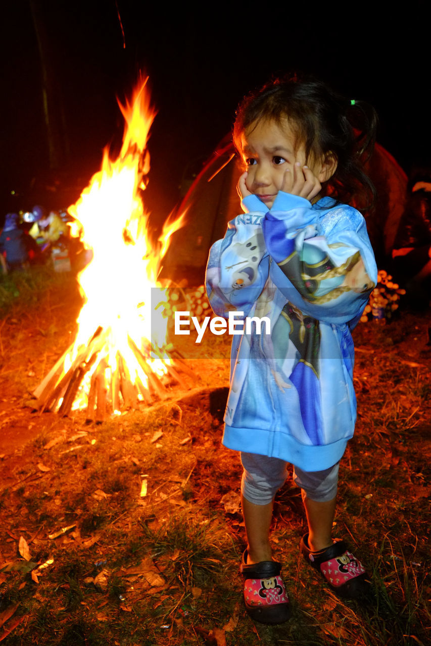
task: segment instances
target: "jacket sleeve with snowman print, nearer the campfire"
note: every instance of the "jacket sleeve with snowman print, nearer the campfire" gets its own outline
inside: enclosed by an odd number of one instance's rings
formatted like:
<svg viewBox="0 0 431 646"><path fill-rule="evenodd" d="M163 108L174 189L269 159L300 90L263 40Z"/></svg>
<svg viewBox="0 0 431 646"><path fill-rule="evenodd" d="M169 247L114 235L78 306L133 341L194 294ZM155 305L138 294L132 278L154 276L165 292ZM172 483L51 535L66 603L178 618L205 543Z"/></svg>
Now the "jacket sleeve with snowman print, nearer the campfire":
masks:
<svg viewBox="0 0 431 646"><path fill-rule="evenodd" d="M262 211L236 216L223 240L210 249L206 293L217 316L243 311L246 317L267 282L269 255L262 220Z"/></svg>

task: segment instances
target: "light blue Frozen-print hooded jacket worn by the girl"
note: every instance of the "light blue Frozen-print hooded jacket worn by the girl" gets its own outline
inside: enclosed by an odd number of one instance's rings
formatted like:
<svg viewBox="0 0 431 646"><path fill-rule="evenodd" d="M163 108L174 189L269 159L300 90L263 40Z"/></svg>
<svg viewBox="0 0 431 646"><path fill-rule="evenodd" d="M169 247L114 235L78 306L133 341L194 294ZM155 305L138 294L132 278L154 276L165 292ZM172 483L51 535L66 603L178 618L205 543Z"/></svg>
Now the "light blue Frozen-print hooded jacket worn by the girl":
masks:
<svg viewBox="0 0 431 646"><path fill-rule="evenodd" d="M355 427L351 329L377 282L366 224L332 198L282 191L269 212L255 195L243 208L206 269L216 315L250 323L232 336L223 444L324 470ZM269 318L271 334L253 317Z"/></svg>

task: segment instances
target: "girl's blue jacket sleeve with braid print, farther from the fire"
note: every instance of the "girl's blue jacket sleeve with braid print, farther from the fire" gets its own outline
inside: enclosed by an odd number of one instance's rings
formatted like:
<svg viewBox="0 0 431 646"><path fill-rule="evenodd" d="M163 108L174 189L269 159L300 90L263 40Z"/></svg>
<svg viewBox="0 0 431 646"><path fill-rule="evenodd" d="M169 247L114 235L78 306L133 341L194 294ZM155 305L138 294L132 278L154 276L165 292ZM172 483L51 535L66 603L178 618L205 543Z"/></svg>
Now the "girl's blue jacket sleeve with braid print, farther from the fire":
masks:
<svg viewBox="0 0 431 646"><path fill-rule="evenodd" d="M263 220L273 280L308 316L356 322L377 282L377 267L362 215L335 205L319 216L309 200L280 191Z"/></svg>

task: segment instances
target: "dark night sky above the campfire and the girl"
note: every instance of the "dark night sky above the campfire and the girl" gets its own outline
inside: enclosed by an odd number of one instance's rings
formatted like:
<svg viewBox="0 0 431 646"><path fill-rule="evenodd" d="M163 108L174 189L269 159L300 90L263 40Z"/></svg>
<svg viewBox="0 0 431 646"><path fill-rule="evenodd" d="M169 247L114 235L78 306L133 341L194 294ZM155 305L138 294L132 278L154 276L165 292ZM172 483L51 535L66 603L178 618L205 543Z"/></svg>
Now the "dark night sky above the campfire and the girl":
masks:
<svg viewBox="0 0 431 646"><path fill-rule="evenodd" d="M98 170L104 145L118 146L116 96L130 94L138 70L149 74L159 110L148 189L148 205L159 217L179 200L182 176L228 132L238 101L274 72L312 72L346 96L368 99L379 112L378 140L404 169L429 160L428 3L406 3L404 13L388 8L383 16L382 5L362 2L354 18L348 3L309 2L296 10L268 2L261 8L182 3L174 10L160 2L148 9L140 0L8 5L2 9L3 212L12 187L21 191L16 208L31 207L30 179L45 177L48 167L34 13L56 96L65 183L78 174L85 182Z"/></svg>

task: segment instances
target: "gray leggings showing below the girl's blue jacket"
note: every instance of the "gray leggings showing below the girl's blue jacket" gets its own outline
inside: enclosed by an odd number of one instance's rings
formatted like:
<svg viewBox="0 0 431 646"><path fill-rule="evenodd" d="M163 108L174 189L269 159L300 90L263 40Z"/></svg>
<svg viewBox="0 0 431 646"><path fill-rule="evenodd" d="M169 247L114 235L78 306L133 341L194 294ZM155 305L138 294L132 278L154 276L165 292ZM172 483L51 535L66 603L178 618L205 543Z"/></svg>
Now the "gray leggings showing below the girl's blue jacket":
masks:
<svg viewBox="0 0 431 646"><path fill-rule="evenodd" d="M287 479L287 462L278 457L241 453L244 467L241 492L254 505L271 503ZM302 497L324 503L337 495L338 462L323 471L303 471L294 466L293 481L302 489Z"/></svg>

